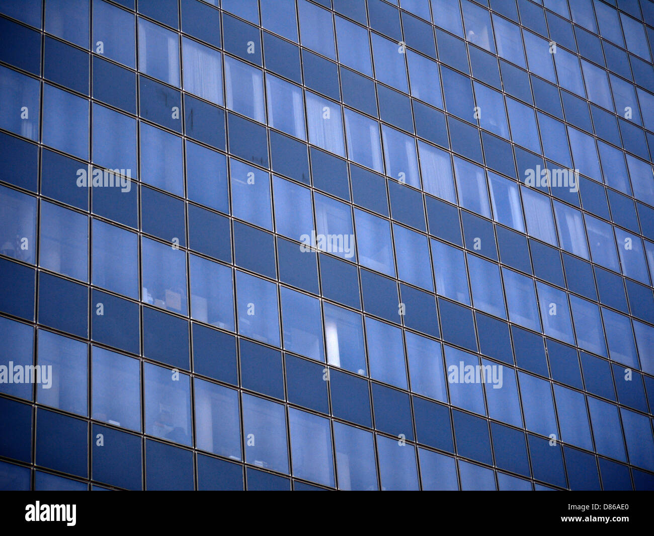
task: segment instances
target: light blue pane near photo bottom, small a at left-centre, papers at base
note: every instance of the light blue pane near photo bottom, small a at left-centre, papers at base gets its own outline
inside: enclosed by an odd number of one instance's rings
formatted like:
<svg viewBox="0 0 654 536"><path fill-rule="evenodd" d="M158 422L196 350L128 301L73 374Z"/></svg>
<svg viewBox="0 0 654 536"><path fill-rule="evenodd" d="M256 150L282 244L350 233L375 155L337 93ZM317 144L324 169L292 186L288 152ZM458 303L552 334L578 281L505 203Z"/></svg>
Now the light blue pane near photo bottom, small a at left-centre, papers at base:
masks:
<svg viewBox="0 0 654 536"><path fill-rule="evenodd" d="M288 446L284 406L243 394L245 461L288 473Z"/></svg>

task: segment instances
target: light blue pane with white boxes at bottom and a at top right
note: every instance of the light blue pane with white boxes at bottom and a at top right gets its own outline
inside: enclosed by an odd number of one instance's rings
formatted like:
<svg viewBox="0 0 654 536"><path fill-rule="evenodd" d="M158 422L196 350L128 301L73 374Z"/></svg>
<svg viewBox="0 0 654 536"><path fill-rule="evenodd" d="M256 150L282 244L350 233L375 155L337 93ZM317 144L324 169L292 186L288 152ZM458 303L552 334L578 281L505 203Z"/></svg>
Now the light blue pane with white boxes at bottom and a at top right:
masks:
<svg viewBox="0 0 654 536"><path fill-rule="evenodd" d="M141 239L143 299L162 309L186 314L186 255L179 249Z"/></svg>

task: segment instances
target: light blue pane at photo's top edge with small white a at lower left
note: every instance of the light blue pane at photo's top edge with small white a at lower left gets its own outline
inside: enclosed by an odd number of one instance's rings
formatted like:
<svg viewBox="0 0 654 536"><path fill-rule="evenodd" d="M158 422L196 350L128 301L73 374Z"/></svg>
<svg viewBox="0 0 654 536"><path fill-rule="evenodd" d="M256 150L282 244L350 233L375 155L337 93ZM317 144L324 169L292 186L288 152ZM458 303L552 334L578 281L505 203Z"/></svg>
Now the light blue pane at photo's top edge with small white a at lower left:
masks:
<svg viewBox="0 0 654 536"><path fill-rule="evenodd" d="M92 49L135 68L134 15L101 0L93 1ZM177 47L175 47L177 48Z"/></svg>

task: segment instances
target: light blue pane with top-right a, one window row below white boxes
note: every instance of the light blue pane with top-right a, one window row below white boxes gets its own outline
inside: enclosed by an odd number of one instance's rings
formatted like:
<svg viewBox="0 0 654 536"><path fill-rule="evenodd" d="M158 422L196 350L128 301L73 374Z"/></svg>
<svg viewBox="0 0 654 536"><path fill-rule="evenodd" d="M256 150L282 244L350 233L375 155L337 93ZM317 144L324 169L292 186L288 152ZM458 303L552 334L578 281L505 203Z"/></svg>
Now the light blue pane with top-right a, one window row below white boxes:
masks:
<svg viewBox="0 0 654 536"><path fill-rule="evenodd" d="M145 432L191 444L191 382L177 369L144 363Z"/></svg>

